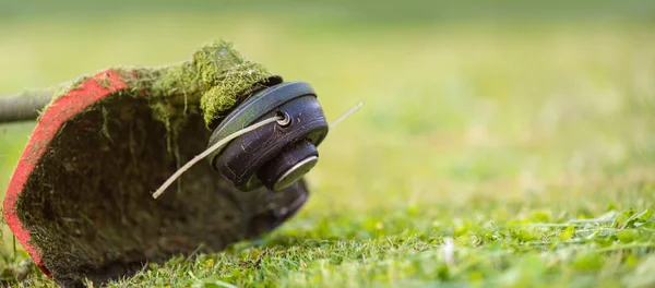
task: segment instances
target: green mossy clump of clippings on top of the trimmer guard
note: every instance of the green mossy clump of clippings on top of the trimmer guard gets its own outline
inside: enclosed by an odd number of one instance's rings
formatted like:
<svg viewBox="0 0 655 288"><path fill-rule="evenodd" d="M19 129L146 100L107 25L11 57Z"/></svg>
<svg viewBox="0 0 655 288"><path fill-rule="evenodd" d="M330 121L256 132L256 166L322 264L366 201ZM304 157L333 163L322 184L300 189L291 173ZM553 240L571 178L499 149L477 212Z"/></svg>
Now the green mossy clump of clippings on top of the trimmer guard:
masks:
<svg viewBox="0 0 655 288"><path fill-rule="evenodd" d="M205 45L190 60L176 65L115 69L133 81L132 91L150 97L157 118L169 121L190 105L200 105L207 127L243 100L254 84L273 76L227 41Z"/></svg>

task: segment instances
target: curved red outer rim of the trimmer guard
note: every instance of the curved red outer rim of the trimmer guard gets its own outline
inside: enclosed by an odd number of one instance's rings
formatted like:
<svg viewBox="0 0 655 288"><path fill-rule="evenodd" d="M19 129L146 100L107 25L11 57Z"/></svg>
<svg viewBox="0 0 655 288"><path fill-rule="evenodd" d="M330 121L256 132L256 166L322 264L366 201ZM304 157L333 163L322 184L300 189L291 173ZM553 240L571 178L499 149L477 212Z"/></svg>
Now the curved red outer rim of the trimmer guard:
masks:
<svg viewBox="0 0 655 288"><path fill-rule="evenodd" d="M9 228L25 248L25 251L29 253L32 260L48 277L51 277L51 275L48 268L44 266L40 251L29 242L28 227L25 227L21 223L21 218L17 215L16 200L23 192L29 175L36 168L38 160L62 124L92 104L126 88L128 88L128 84L120 79L118 73L109 69L93 75L83 82L79 88L71 89L55 100L36 124L11 178L4 196L4 218Z"/></svg>

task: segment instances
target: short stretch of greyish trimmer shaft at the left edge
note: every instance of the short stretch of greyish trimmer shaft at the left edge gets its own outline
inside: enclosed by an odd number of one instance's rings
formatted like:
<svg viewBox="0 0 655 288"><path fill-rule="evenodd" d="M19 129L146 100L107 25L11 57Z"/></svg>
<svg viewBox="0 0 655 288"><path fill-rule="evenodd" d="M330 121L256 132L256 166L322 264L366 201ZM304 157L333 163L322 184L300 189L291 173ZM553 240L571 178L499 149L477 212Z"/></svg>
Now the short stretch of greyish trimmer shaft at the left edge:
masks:
<svg viewBox="0 0 655 288"><path fill-rule="evenodd" d="M52 99L51 92L26 92L0 96L0 123L33 121Z"/></svg>

